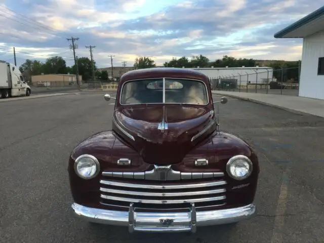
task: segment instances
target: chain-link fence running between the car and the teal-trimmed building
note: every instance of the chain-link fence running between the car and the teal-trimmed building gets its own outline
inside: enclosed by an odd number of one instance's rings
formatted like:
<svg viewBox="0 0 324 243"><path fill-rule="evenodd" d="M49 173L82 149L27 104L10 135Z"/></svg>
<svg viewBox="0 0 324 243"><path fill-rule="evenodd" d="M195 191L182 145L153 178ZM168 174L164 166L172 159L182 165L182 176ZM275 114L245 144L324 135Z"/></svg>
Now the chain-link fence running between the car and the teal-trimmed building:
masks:
<svg viewBox="0 0 324 243"><path fill-rule="evenodd" d="M213 90L298 96L300 68L210 77Z"/></svg>

